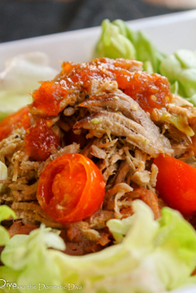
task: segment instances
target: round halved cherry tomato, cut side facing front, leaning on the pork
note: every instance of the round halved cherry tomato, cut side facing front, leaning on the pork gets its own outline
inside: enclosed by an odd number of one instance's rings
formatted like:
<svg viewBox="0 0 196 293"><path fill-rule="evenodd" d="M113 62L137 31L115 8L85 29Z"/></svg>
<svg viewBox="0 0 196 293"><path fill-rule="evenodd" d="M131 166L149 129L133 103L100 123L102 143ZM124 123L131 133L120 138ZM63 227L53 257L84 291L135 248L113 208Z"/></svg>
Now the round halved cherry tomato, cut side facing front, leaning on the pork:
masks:
<svg viewBox="0 0 196 293"><path fill-rule="evenodd" d="M101 171L81 154L65 154L52 161L41 174L37 189L40 206L63 224L93 215L104 195Z"/></svg>

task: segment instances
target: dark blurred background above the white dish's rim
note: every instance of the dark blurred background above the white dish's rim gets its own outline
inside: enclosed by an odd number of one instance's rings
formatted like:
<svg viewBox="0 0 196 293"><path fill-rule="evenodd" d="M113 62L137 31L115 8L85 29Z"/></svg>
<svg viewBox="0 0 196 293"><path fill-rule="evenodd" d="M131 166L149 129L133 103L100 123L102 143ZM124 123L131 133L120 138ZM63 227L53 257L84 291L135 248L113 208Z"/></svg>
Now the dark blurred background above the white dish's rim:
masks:
<svg viewBox="0 0 196 293"><path fill-rule="evenodd" d="M176 11L142 0L0 0L0 42Z"/></svg>

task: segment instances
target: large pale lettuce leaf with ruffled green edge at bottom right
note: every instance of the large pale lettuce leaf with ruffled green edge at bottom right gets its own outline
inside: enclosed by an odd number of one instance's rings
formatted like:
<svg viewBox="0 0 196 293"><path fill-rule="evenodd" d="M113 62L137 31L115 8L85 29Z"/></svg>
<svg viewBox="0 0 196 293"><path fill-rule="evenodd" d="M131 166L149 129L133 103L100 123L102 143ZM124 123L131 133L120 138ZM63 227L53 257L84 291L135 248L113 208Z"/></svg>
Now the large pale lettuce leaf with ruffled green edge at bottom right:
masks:
<svg viewBox="0 0 196 293"><path fill-rule="evenodd" d="M109 222L115 237L118 233L117 239L122 231L121 243L100 253L76 257L74 264L72 257L64 255L60 261L58 256L62 270L68 264L70 267L64 282L74 277L73 282L83 284L86 292L105 289L112 293L157 293L191 279L196 263L196 232L192 226L169 208L163 209L159 221L154 220L151 209L139 200L133 202L133 210L129 229L128 220Z"/></svg>

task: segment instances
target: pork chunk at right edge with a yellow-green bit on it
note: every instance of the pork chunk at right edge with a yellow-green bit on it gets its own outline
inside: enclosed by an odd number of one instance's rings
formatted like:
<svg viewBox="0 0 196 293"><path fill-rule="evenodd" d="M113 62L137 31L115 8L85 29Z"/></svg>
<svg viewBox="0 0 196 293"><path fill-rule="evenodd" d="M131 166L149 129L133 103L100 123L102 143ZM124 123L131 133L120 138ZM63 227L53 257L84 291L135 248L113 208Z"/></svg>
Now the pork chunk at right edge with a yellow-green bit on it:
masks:
<svg viewBox="0 0 196 293"><path fill-rule="evenodd" d="M192 155L191 151L196 154L196 109L191 103L173 95L166 108L152 110L151 119L162 126L166 137L172 138L174 156L179 158L186 153L189 157Z"/></svg>

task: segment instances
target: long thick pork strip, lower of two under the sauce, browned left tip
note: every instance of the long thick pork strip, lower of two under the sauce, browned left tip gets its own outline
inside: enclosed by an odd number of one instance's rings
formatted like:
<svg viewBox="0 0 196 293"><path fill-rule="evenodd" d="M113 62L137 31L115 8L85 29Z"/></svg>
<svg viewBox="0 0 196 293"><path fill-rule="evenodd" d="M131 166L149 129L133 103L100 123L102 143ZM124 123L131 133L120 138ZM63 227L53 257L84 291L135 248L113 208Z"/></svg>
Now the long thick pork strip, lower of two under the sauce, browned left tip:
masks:
<svg viewBox="0 0 196 293"><path fill-rule="evenodd" d="M166 137L159 133L159 137L155 138L150 129L119 113L101 111L93 114L78 121L73 127L75 130L80 128L90 130L88 137L101 137L105 133L126 137L126 142L154 157L159 153L173 153Z"/></svg>

